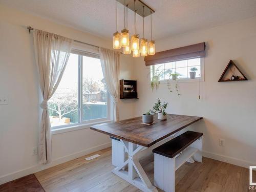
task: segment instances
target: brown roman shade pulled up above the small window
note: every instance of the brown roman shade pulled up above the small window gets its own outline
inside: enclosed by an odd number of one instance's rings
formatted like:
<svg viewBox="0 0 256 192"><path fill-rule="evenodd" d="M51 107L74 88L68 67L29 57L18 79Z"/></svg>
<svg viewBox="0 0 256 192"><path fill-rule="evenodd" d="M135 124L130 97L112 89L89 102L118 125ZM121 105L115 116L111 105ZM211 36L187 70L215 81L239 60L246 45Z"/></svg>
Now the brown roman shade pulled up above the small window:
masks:
<svg viewBox="0 0 256 192"><path fill-rule="evenodd" d="M205 57L205 42L157 52L155 55L146 56L144 58L144 61L146 66L153 66L164 62L172 62L200 57Z"/></svg>

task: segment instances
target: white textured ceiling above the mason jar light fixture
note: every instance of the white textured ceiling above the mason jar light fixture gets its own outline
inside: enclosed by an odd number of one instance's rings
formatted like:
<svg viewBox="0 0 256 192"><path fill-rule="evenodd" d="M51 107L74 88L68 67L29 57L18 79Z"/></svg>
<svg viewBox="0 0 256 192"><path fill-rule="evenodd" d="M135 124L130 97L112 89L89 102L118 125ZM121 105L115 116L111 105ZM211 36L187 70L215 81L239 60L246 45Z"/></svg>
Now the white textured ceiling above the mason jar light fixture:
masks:
<svg viewBox="0 0 256 192"><path fill-rule="evenodd" d="M142 0L153 8L153 38L210 28L256 16L255 0ZM99 36L115 32L115 0L0 0L57 23ZM118 3L118 30L123 29L123 6ZM134 33L134 14L129 11L128 28ZM137 18L142 36L142 17ZM145 37L150 38L150 16L145 17Z"/></svg>

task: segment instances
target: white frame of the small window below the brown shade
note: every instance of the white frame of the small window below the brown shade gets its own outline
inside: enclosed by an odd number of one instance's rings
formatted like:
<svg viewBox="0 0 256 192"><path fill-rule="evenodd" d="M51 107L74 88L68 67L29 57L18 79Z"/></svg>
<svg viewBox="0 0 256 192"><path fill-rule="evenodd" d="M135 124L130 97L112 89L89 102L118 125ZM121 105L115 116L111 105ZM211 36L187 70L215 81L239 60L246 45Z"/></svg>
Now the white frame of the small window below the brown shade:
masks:
<svg viewBox="0 0 256 192"><path fill-rule="evenodd" d="M182 59L182 60L189 60L189 59ZM177 61L182 61L182 60L177 60ZM158 65L165 64L165 63L167 63L167 62L159 63ZM150 67L151 67L150 69L152 70L150 77L152 78L152 74L154 73L156 65L152 65ZM183 67L183 68L185 68L185 67ZM186 68L188 68L188 67L186 67ZM176 66L175 66L175 69L176 69ZM180 83L180 82L198 82L198 81L202 82L202 81L204 81L204 57L200 58L200 77L196 77L195 79L177 78L177 80L161 79L159 82L160 82L160 84L164 84L164 83L167 83L167 81L178 82L178 83Z"/></svg>

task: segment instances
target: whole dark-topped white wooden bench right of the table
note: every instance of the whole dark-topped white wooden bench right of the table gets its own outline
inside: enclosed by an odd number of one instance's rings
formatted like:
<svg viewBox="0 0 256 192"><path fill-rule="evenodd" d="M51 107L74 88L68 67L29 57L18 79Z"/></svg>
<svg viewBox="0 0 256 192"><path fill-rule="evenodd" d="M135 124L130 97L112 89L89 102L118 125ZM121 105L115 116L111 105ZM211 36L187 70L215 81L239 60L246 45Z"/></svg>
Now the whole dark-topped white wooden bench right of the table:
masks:
<svg viewBox="0 0 256 192"><path fill-rule="evenodd" d="M186 161L202 162L203 133L187 131L154 148L155 186L166 191L175 191L175 171ZM195 160L195 161L194 161Z"/></svg>

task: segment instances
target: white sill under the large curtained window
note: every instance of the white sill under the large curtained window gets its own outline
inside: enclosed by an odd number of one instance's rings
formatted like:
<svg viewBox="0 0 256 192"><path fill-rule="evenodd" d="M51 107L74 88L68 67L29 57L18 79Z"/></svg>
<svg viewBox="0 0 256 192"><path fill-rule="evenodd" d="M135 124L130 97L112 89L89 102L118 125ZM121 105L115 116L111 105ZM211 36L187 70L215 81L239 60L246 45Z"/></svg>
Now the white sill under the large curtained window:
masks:
<svg viewBox="0 0 256 192"><path fill-rule="evenodd" d="M52 130L52 135L71 132L71 131L77 131L77 130L82 130L82 129L89 129L90 126L92 126L92 125L111 122L111 121L112 120L103 120L103 121L98 121L98 122L94 122L94 123L83 123L83 124L80 123L77 125L65 126L65 127L61 127L61 128Z"/></svg>

